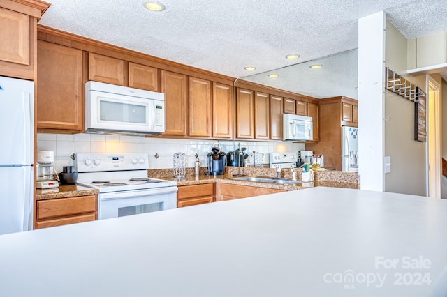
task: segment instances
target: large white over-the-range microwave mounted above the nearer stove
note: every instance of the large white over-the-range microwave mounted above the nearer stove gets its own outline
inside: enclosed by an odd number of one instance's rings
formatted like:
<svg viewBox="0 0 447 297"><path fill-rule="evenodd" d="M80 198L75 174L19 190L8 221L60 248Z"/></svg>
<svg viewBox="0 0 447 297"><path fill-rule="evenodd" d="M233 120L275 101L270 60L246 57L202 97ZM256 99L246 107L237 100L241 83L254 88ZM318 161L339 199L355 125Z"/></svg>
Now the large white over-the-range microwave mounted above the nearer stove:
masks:
<svg viewBox="0 0 447 297"><path fill-rule="evenodd" d="M126 86L85 84L85 132L159 135L165 132L163 93Z"/></svg>

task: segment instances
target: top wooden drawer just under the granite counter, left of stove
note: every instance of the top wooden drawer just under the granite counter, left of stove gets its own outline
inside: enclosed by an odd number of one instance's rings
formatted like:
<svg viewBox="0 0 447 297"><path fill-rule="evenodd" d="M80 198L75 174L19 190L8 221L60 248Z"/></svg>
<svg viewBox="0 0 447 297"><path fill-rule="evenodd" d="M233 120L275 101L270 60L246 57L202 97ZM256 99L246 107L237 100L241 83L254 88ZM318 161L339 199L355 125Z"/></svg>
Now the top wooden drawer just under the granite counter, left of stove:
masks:
<svg viewBox="0 0 447 297"><path fill-rule="evenodd" d="M91 213L96 211L96 196L80 196L37 201L36 220L61 215Z"/></svg>

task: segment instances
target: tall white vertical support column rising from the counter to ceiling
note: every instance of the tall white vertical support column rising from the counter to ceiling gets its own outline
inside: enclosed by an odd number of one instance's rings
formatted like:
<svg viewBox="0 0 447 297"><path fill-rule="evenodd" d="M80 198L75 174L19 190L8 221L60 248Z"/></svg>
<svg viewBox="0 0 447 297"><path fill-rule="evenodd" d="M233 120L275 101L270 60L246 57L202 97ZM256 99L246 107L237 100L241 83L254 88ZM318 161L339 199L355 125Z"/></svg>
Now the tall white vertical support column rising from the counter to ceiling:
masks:
<svg viewBox="0 0 447 297"><path fill-rule="evenodd" d="M385 21L381 11L358 20L358 150L360 188L383 191Z"/></svg>

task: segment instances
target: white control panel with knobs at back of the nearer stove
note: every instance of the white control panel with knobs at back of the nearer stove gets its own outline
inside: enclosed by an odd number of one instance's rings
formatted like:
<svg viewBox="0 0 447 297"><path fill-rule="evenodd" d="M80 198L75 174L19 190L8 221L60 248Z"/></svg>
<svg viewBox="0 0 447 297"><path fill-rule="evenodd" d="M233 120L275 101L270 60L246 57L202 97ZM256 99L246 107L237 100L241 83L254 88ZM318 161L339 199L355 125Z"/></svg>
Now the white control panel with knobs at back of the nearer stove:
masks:
<svg viewBox="0 0 447 297"><path fill-rule="evenodd" d="M149 168L147 153L77 153L77 172L103 172Z"/></svg>

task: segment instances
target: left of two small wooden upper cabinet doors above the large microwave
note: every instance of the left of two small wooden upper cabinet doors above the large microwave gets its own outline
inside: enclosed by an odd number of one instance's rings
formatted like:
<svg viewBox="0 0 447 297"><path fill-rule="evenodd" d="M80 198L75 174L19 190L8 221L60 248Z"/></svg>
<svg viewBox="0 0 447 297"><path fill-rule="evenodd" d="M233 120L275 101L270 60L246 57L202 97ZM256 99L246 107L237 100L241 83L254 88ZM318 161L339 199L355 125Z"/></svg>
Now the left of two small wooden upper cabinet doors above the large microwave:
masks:
<svg viewBox="0 0 447 297"><path fill-rule="evenodd" d="M89 52L89 80L124 86L124 61Z"/></svg>

